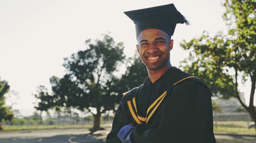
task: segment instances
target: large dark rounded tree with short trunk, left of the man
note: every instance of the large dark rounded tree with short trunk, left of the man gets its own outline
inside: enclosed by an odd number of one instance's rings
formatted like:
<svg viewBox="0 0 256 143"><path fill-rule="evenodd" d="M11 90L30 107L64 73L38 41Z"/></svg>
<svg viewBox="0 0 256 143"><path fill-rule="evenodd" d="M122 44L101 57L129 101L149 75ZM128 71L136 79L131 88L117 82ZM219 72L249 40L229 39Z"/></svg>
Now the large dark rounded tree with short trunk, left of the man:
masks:
<svg viewBox="0 0 256 143"><path fill-rule="evenodd" d="M85 41L86 50L64 58L67 73L63 78L52 76L50 81L54 95L49 102L60 107L85 108L94 116L94 127L100 128L102 113L115 109L118 95L114 73L125 56L122 42L115 43L109 35L103 39Z"/></svg>

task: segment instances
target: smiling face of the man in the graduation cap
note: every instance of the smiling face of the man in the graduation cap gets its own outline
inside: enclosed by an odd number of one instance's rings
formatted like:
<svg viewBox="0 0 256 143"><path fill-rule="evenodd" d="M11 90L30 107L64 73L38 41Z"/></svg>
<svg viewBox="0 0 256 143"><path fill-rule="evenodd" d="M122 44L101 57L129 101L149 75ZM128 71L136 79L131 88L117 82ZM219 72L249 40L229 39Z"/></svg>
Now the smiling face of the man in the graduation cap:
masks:
<svg viewBox="0 0 256 143"><path fill-rule="evenodd" d="M137 37L137 51L149 70L159 70L170 63L173 40L159 29L145 29Z"/></svg>

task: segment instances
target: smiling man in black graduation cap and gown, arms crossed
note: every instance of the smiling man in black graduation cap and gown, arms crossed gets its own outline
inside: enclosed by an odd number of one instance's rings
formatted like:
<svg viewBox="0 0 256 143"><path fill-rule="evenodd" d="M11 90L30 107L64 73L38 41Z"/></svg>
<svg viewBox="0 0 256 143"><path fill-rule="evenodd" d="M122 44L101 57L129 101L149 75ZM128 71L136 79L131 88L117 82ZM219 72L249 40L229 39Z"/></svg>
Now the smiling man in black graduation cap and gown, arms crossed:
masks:
<svg viewBox="0 0 256 143"><path fill-rule="evenodd" d="M174 4L124 13L149 77L124 93L107 143L216 143L210 90L170 63L176 24L188 21Z"/></svg>

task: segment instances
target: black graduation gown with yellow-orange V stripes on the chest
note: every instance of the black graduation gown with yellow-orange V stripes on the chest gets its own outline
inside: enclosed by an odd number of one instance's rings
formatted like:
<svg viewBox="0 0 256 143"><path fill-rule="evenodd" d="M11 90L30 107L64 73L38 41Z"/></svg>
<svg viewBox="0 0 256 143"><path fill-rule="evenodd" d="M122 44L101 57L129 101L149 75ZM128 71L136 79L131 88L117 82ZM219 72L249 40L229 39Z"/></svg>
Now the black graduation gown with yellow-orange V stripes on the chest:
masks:
<svg viewBox="0 0 256 143"><path fill-rule="evenodd" d="M107 143L121 143L117 133L131 122L132 143L216 143L211 93L200 79L171 67L155 83L147 77L124 93Z"/></svg>

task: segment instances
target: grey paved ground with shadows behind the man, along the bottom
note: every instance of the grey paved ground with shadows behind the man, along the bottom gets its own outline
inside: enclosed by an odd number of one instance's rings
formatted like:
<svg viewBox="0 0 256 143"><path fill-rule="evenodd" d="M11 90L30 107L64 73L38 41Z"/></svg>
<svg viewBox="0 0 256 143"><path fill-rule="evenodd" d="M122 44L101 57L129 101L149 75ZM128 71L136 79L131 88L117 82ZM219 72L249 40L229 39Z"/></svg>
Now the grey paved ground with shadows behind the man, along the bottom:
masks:
<svg viewBox="0 0 256 143"><path fill-rule="evenodd" d="M109 129L90 134L88 129L0 131L0 143L104 143ZM217 143L256 143L255 137L215 135Z"/></svg>

